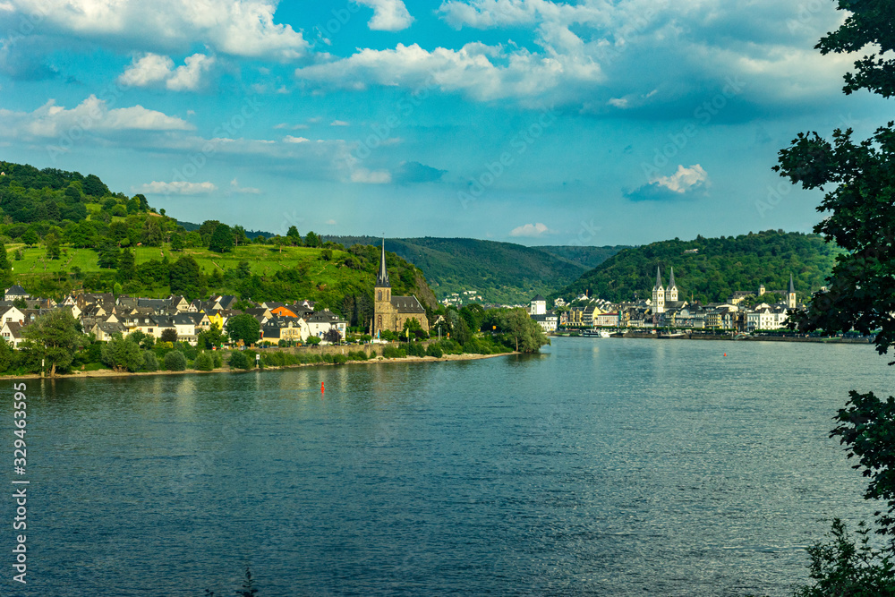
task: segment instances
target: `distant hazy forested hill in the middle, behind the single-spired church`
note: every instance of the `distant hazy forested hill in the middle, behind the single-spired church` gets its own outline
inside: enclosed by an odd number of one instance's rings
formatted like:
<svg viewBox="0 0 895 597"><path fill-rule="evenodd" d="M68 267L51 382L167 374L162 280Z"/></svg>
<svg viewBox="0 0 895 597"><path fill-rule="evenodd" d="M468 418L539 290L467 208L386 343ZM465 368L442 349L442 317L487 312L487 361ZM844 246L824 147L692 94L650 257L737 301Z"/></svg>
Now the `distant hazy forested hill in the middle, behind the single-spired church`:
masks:
<svg viewBox="0 0 895 597"><path fill-rule="evenodd" d="M346 247L381 242L373 236L325 238ZM472 238L391 238L386 250L422 269L439 297L475 290L485 303L527 303L534 294L567 286L588 268L537 247Z"/></svg>

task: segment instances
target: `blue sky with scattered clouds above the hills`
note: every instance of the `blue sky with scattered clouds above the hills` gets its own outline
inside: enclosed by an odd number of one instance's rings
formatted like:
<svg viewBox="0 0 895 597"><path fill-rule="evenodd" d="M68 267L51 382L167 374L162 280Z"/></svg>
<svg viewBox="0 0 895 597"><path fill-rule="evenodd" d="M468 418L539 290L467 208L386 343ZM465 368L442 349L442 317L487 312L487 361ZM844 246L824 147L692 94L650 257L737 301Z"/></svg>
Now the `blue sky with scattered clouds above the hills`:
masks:
<svg viewBox="0 0 895 597"><path fill-rule="evenodd" d="M808 232L797 132L891 119L832 2L0 0L0 158L285 234Z"/></svg>

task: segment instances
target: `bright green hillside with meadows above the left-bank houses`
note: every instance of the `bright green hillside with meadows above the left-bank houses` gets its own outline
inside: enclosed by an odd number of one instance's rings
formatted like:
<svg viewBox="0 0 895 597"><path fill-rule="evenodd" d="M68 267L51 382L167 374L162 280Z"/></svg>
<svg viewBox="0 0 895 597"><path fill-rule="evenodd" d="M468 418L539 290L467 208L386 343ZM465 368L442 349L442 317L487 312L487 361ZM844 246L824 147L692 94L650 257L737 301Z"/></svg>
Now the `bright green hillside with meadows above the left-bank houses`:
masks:
<svg viewBox="0 0 895 597"><path fill-rule="evenodd" d="M371 315L376 247L346 250L313 233L302 239L297 231L250 240L242 227L214 220L187 230L142 195L110 192L95 175L2 161L0 173L0 241L12 265L3 272L4 285L53 297L118 287L155 297L309 299L353 322ZM419 269L390 252L387 262L395 294L415 294L436 306Z"/></svg>

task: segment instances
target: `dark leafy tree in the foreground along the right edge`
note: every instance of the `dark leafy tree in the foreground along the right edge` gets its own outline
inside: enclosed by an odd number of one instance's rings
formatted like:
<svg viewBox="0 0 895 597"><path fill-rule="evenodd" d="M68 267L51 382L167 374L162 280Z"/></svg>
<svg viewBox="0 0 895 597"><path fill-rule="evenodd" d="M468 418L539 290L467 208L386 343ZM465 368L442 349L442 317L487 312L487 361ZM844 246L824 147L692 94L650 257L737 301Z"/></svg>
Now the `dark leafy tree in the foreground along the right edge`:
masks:
<svg viewBox="0 0 895 597"><path fill-rule="evenodd" d="M865 89L889 98L895 94L895 60L884 59L895 50L895 28L889 0L839 1L840 10L850 14L840 28L822 38L816 48L822 54L855 52L865 47L871 53L855 63L856 72L845 75L845 93ZM876 54L875 52L879 52ZM790 327L801 331L846 332L855 329L869 334L876 329L874 343L880 354L895 344L895 123L888 123L865 141L852 141L853 131L837 129L832 141L816 132L799 133L787 149L780 150L774 169L800 183L805 189L823 189L820 212L831 215L814 231L828 242L846 250L837 257L828 278L830 290L814 294L805 311L790 316ZM890 363L893 364L893 363ZM855 468L864 469L871 479L867 499L886 500L887 509L877 512L877 533L889 535L888 552L895 553L895 456L891 438L895 436L895 398L882 402L874 394L849 393L847 407L840 409L839 426L831 431L848 446L848 456L858 456ZM833 526L834 534L837 532ZM844 533L844 530L843 530ZM823 554L822 554L823 555ZM821 560L815 559L823 563ZM830 568L818 568L818 584L823 593L832 576L848 574L848 558L840 558ZM885 569L891 587L891 567ZM816 594L821 594L816 593ZM891 594L882 582L868 593ZM804 593L814 594L814 593ZM824 593L832 594L832 593Z"/></svg>

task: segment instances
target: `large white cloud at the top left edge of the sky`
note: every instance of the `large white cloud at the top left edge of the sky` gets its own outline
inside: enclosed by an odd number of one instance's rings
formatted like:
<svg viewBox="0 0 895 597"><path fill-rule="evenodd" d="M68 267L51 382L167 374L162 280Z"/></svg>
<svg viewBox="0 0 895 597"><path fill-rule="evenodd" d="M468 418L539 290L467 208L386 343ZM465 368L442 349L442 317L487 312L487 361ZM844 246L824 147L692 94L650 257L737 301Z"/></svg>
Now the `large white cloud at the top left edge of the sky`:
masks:
<svg viewBox="0 0 895 597"><path fill-rule="evenodd" d="M275 0L7 0L23 15L40 14L38 32L62 33L110 46L187 51L196 43L219 53L292 60L308 43L274 22Z"/></svg>

